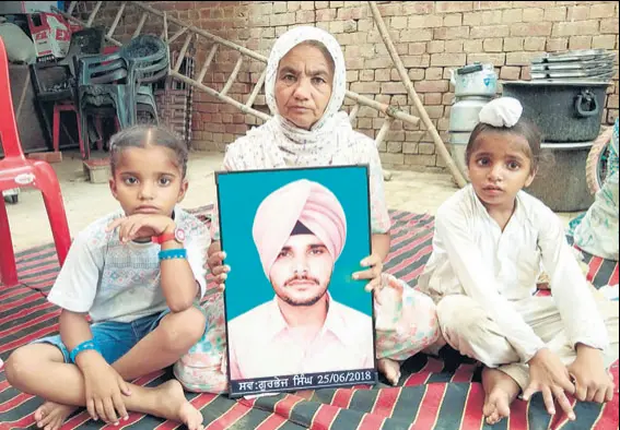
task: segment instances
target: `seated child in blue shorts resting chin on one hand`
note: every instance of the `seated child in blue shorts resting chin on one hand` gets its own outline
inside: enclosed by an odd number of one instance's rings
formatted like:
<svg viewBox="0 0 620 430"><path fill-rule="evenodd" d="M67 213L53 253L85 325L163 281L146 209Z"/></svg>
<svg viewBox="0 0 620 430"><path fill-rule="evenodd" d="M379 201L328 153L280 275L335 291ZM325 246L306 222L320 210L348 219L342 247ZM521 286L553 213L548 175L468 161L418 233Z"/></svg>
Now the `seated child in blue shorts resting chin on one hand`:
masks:
<svg viewBox="0 0 620 430"><path fill-rule="evenodd" d="M80 406L108 423L139 411L202 428L182 385L129 383L178 360L204 333L208 228L177 206L188 152L173 132L136 126L110 140L109 187L120 210L81 231L48 300L60 334L16 349L9 382L47 402L37 427L60 428ZM92 319L92 324L86 320Z"/></svg>

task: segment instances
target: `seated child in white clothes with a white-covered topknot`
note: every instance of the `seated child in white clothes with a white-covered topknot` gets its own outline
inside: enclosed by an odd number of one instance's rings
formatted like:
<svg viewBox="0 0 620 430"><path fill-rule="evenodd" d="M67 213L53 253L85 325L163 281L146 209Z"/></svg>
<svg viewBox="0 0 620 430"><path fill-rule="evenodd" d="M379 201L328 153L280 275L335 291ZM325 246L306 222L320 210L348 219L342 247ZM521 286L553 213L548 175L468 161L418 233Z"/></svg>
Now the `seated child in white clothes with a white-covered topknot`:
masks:
<svg viewBox="0 0 620 430"><path fill-rule="evenodd" d="M437 211L433 252L419 286L437 303L445 341L486 366L487 421L510 415L522 393L541 392L575 414L578 401L613 397L608 373L618 359L618 307L594 290L563 225L523 191L538 169L540 134L502 97L480 111L466 148L470 184ZM560 186L560 184L558 184ZM552 297L535 295L541 264Z"/></svg>

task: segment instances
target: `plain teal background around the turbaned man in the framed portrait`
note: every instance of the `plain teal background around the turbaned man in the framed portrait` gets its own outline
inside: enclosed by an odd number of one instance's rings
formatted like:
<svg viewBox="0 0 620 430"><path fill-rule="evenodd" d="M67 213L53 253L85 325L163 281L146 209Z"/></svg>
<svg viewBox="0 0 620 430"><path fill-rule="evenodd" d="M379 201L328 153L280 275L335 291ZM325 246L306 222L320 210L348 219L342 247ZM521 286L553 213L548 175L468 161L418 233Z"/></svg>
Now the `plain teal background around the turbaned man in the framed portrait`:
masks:
<svg viewBox="0 0 620 430"><path fill-rule="evenodd" d="M274 297L260 264L251 226L260 202L297 179L327 187L347 215L347 242L335 264L329 294L346 306L373 314L372 295L364 289L367 280L351 277L364 270L360 262L371 249L367 168L346 166L218 174L221 238L225 263L231 266L224 292L229 321Z"/></svg>

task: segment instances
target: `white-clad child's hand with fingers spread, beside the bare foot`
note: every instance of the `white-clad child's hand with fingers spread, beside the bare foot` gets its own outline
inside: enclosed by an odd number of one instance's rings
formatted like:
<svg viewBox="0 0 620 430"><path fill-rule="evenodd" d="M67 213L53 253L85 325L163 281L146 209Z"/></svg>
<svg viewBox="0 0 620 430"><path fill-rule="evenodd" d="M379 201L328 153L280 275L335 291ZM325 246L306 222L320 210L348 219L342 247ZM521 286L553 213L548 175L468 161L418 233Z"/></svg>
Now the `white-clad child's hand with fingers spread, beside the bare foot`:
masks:
<svg viewBox="0 0 620 430"><path fill-rule="evenodd" d="M575 413L565 392L574 394L575 386L571 382L569 370L555 354L548 348L540 349L529 360L529 385L523 392L524 401L529 401L533 394L541 392L545 406L550 415L555 415L553 397L558 401L569 419L575 419Z"/></svg>

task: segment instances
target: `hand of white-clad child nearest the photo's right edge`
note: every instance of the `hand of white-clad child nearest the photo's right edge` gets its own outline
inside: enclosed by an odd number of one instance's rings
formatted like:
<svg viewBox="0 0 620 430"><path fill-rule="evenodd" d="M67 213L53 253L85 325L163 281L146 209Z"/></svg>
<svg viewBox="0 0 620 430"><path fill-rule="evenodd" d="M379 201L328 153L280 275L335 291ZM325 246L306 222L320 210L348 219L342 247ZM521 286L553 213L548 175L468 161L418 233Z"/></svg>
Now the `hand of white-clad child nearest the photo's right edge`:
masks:
<svg viewBox="0 0 620 430"><path fill-rule="evenodd" d="M613 379L605 370L598 349L577 346L577 358L569 366L575 381L575 397L580 402L605 403L613 399Z"/></svg>

